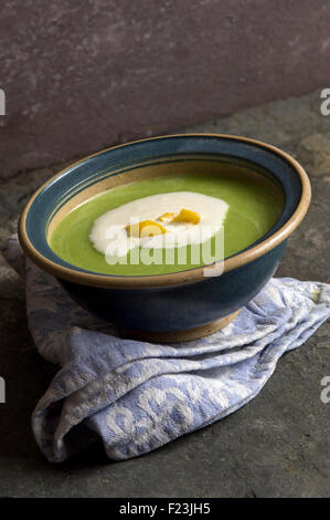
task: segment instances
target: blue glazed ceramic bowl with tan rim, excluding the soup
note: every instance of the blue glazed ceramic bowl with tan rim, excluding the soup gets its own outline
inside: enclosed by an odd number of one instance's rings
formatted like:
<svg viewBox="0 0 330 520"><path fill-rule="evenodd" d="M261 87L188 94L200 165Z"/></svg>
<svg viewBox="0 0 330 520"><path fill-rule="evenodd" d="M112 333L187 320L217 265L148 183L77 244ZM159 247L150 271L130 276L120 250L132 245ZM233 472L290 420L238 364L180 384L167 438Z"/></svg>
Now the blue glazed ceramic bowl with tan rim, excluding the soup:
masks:
<svg viewBox="0 0 330 520"><path fill-rule="evenodd" d="M180 171L245 170L270 176L285 194L275 226L244 251L226 258L223 273L204 267L160 275L111 275L67 263L49 246L58 221L111 186ZM30 199L19 223L26 254L62 282L82 306L124 333L149 341L184 341L228 323L275 273L286 241L307 212L310 184L301 166L274 146L228 135L188 134L108 148L65 168Z"/></svg>

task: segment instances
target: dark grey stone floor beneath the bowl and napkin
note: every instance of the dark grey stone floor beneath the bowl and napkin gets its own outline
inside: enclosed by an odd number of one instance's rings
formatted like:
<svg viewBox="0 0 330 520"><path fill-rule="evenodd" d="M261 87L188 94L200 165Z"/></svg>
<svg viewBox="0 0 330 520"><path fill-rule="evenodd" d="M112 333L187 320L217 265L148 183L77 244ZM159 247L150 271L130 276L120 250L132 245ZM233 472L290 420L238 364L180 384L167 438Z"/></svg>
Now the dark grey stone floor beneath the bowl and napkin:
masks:
<svg viewBox="0 0 330 520"><path fill-rule="evenodd" d="M318 93L242 111L194 127L257 137L302 163L312 183L307 218L290 239L277 275L330 282L330 116ZM0 186L0 239L56 167L24 171ZM147 456L109 462L99 446L60 466L40 454L30 416L56 368L33 346L24 289L0 260L1 497L327 497L330 493L329 323L285 355L262 393L232 416Z"/></svg>

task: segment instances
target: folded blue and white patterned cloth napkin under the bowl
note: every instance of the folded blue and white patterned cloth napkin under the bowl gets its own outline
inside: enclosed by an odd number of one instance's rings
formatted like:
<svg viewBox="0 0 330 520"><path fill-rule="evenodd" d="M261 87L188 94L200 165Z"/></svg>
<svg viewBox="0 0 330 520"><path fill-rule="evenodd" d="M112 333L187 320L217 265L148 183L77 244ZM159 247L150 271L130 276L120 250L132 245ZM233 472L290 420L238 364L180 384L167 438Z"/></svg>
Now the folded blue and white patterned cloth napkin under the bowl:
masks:
<svg viewBox="0 0 330 520"><path fill-rule="evenodd" d="M15 236L2 252L25 279L38 351L61 366L32 415L51 462L97 439L110 459L127 459L219 420L257 395L277 360L330 315L330 285L272 279L207 337L171 345L123 340L25 261Z"/></svg>

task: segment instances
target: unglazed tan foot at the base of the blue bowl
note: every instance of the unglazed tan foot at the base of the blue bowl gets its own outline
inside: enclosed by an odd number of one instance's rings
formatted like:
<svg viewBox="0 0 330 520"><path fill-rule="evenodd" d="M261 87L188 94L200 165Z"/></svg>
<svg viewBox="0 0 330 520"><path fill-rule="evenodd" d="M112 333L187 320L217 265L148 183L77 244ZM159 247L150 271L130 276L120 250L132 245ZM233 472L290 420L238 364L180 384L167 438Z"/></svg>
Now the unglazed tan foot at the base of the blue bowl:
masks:
<svg viewBox="0 0 330 520"><path fill-rule="evenodd" d="M238 314L239 310L228 314L221 320L215 320L206 325L195 326L185 331L178 332L150 332L150 331L120 331L125 337L131 337L132 340L142 340L150 343L179 343L183 341L198 340L200 337L209 336L216 331L220 331L233 321Z"/></svg>

